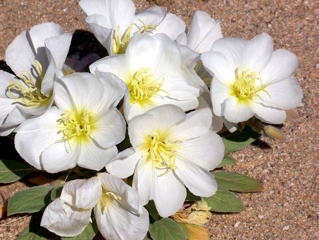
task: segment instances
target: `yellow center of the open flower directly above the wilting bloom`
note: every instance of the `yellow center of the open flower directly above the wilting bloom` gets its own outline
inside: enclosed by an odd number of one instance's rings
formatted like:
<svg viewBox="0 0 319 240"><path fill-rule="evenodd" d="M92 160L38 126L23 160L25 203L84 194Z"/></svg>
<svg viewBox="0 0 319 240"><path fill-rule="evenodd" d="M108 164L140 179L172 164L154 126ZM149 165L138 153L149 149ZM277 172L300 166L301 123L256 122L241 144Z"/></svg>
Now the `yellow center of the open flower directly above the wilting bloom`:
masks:
<svg viewBox="0 0 319 240"><path fill-rule="evenodd" d="M95 129L95 115L90 110L72 111L67 110L58 119L60 124L60 132L63 134L63 140L75 139L77 141L88 141L89 134ZM71 146L70 146L71 148Z"/></svg>

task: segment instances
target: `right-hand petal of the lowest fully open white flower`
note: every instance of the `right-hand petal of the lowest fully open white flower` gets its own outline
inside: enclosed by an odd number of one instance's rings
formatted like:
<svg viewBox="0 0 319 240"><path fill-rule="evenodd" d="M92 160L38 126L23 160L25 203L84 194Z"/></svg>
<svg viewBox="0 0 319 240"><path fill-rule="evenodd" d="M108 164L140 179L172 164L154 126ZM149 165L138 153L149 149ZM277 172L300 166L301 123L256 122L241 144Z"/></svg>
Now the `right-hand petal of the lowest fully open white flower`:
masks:
<svg viewBox="0 0 319 240"><path fill-rule="evenodd" d="M178 156L209 171L215 169L224 157L224 143L221 137L212 131L184 141L179 146Z"/></svg>

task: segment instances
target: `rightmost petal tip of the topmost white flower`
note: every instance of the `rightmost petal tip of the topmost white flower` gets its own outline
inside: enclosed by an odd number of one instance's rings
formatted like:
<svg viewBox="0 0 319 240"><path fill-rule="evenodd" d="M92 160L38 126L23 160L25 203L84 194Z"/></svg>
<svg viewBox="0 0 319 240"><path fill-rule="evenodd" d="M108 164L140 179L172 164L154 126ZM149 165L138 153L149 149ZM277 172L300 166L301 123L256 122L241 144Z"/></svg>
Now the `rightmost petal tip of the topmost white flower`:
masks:
<svg viewBox="0 0 319 240"><path fill-rule="evenodd" d="M178 36L186 29L186 25L182 19L175 14L166 14L164 20L156 27L154 33L164 33L170 39L176 40Z"/></svg>

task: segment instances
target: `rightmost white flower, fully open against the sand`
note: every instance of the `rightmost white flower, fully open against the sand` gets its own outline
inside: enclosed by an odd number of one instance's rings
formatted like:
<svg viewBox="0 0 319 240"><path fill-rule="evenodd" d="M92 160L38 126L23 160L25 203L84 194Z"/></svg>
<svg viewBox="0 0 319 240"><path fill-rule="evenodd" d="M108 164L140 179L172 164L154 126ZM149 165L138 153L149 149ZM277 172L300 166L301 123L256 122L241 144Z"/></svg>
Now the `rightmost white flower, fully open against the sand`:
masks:
<svg viewBox="0 0 319 240"><path fill-rule="evenodd" d="M264 122L280 124L286 119L285 110L301 102L302 90L293 77L297 57L283 49L273 52L272 39L266 33L251 40L217 40L201 60L214 73L214 113L230 122L256 116Z"/></svg>

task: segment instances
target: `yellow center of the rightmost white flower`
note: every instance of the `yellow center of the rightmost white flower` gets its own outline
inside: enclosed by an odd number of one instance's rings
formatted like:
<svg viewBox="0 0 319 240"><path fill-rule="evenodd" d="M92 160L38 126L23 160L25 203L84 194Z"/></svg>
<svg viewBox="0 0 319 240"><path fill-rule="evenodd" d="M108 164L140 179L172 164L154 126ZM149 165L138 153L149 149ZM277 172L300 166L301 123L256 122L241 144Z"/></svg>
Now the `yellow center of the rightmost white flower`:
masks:
<svg viewBox="0 0 319 240"><path fill-rule="evenodd" d="M258 72L250 72L250 69L243 71L242 67L238 67L235 73L236 81L232 86L232 95L236 96L238 100L244 102L252 100L259 91L264 91L268 94L265 88L269 86L271 82L264 86ZM257 85L258 81L260 82L259 86Z"/></svg>

